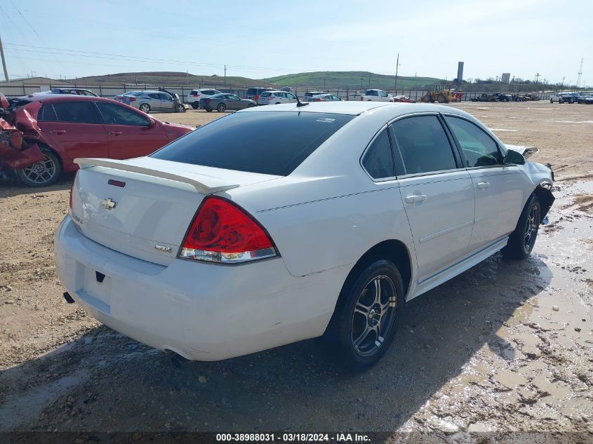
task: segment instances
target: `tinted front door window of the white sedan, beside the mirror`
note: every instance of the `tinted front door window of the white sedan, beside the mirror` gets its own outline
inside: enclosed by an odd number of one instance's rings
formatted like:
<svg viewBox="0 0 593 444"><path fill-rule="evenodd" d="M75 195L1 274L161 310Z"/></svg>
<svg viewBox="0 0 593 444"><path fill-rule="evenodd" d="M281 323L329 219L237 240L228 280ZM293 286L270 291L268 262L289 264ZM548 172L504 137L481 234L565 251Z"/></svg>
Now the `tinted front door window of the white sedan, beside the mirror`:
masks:
<svg viewBox="0 0 593 444"><path fill-rule="evenodd" d="M458 117L446 116L445 121L459 141L465 156L465 166L473 168L502 164L498 145L484 130Z"/></svg>

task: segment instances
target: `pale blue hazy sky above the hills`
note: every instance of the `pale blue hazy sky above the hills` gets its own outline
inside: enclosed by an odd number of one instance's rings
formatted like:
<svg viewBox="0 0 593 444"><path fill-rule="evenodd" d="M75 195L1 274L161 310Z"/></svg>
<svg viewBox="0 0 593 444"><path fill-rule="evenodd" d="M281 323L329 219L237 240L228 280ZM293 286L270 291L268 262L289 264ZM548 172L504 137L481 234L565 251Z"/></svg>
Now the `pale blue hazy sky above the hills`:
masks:
<svg viewBox="0 0 593 444"><path fill-rule="evenodd" d="M135 6L133 6L135 4ZM593 84L593 1L7 0L11 78L180 71L261 79L371 71ZM51 6L50 6L51 5ZM163 9L166 8L166 9ZM67 50L67 51L65 51Z"/></svg>

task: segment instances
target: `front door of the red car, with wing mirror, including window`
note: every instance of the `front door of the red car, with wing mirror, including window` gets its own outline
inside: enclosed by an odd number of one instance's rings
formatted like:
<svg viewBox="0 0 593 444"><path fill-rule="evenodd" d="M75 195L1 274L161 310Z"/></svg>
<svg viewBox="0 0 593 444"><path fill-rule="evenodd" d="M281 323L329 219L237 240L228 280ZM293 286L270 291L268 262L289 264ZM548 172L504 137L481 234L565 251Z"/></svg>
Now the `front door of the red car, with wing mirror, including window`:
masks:
<svg viewBox="0 0 593 444"><path fill-rule="evenodd" d="M168 142L162 125L151 126L149 118L134 109L111 102L94 102L105 122L111 159L146 156Z"/></svg>

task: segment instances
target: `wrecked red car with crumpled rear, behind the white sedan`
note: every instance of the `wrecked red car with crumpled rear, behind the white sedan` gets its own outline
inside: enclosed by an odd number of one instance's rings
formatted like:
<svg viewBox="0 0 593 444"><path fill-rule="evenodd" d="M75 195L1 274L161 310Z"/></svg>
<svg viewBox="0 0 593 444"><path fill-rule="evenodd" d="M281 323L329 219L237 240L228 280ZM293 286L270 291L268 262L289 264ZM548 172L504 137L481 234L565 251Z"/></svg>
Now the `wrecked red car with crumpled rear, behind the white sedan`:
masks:
<svg viewBox="0 0 593 444"><path fill-rule="evenodd" d="M0 93L0 170L46 187L78 169L76 157L146 156L191 131L101 97L39 95L10 105Z"/></svg>

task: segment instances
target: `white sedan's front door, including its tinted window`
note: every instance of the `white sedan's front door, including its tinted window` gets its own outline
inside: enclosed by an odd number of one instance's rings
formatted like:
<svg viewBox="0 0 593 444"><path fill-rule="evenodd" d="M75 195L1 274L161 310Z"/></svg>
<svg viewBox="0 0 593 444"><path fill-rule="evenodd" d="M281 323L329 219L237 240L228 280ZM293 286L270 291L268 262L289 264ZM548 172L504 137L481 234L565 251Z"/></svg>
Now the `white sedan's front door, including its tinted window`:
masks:
<svg viewBox="0 0 593 444"><path fill-rule="evenodd" d="M445 116L445 121L475 189L474 250L514 230L523 208L525 179L517 165L503 163L498 143L482 128L459 116Z"/></svg>

